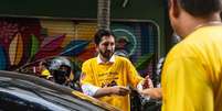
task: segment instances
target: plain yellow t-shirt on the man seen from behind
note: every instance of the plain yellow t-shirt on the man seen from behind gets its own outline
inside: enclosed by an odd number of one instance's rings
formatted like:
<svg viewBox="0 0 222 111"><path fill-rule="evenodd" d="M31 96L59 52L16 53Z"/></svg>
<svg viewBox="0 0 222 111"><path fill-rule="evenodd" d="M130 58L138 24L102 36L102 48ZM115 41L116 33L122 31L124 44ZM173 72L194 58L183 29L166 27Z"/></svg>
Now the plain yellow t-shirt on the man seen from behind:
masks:
<svg viewBox="0 0 222 111"><path fill-rule="evenodd" d="M168 54L162 111L222 111L222 26L200 27Z"/></svg>

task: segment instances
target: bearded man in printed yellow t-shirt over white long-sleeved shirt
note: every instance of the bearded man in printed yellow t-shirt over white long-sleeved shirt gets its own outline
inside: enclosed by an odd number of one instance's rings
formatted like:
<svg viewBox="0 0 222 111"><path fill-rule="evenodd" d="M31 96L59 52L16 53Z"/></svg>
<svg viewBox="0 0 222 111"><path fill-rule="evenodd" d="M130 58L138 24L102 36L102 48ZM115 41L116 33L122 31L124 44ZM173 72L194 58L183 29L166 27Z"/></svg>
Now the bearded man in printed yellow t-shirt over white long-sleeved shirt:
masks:
<svg viewBox="0 0 222 111"><path fill-rule="evenodd" d="M86 60L82 66L81 84L85 95L129 111L129 89L141 88L141 78L129 59L114 55L115 36L99 30L94 37L98 56ZM149 80L151 86L151 80Z"/></svg>

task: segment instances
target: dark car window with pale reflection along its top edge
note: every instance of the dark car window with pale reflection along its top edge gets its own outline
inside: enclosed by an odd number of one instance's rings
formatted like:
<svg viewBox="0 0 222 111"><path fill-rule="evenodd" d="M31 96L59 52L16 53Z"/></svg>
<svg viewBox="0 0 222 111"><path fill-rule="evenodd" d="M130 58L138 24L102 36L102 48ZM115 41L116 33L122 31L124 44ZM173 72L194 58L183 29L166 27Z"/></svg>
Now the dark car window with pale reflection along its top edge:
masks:
<svg viewBox="0 0 222 111"><path fill-rule="evenodd" d="M3 111L70 111L41 98L0 88L0 108Z"/></svg>

